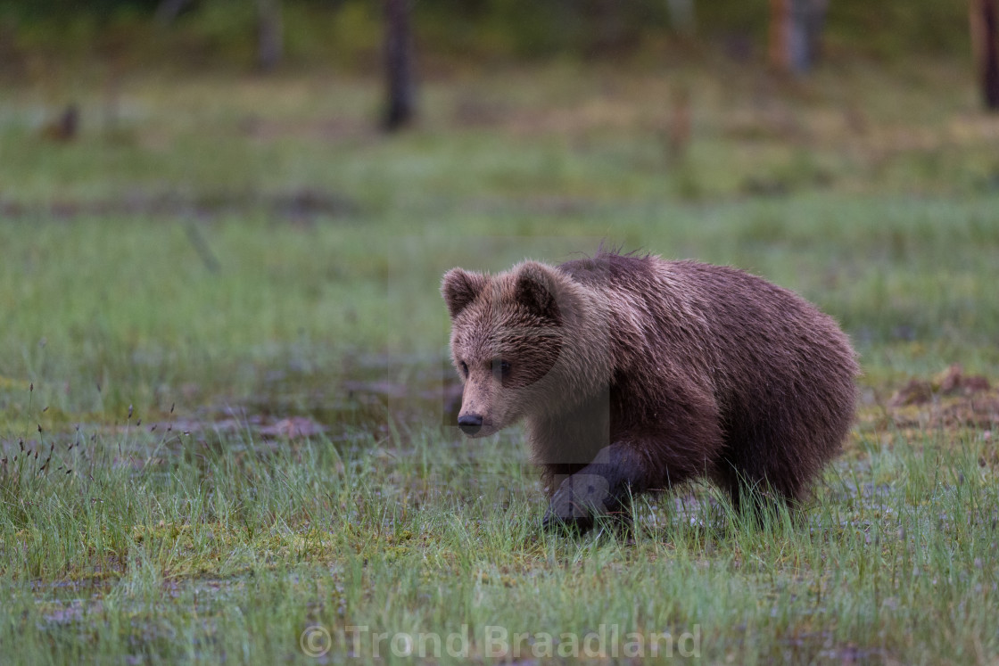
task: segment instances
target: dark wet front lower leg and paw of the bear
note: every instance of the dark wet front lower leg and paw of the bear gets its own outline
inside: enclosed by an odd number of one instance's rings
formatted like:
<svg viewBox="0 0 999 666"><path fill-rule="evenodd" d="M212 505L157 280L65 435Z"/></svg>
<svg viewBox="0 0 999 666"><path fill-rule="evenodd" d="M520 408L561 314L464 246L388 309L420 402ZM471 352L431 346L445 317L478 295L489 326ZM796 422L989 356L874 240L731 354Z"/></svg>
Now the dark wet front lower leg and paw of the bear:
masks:
<svg viewBox="0 0 999 666"><path fill-rule="evenodd" d="M547 530L575 529L584 532L598 515L622 518L632 493L647 483L641 459L623 444L600 449L588 465L567 476L551 495L542 526Z"/></svg>

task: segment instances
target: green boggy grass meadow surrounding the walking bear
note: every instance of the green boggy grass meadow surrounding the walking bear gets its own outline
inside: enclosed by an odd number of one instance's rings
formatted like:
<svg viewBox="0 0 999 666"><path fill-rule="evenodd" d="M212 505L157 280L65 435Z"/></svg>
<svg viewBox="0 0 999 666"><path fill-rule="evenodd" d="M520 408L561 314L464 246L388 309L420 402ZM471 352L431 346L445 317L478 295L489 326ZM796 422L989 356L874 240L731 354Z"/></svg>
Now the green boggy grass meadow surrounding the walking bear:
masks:
<svg viewBox="0 0 999 666"><path fill-rule="evenodd" d="M109 128L67 76L66 145L38 134L58 77L0 92L4 661L309 662L321 627L334 662L668 632L707 663L994 663L994 391L889 399L999 377L999 121L922 65L456 74L393 139L349 78L128 78ZM444 271L602 239L853 336L860 419L807 511L744 524L694 486L641 500L633 542L556 538L519 433L443 425Z"/></svg>

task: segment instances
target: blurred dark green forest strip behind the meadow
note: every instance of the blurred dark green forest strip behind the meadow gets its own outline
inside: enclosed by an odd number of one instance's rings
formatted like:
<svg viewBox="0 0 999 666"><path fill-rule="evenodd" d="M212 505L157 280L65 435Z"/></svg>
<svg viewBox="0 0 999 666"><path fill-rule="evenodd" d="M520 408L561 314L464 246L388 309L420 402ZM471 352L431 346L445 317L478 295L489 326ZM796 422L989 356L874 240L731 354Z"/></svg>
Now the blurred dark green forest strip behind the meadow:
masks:
<svg viewBox="0 0 999 666"><path fill-rule="evenodd" d="M364 73L380 67L385 28L402 20L427 76L552 57L668 67L710 54L802 73L818 59L968 58L973 47L985 76L997 29L995 0L4 0L0 67L8 79L82 60L116 71Z"/></svg>

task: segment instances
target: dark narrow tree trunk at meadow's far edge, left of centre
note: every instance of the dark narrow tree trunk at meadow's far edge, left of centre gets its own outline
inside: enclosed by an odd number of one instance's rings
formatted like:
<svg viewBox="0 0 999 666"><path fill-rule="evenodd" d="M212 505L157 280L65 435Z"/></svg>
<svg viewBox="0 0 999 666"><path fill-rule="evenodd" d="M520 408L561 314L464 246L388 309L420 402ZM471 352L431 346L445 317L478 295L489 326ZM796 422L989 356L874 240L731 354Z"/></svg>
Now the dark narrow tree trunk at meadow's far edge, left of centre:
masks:
<svg viewBox="0 0 999 666"><path fill-rule="evenodd" d="M382 126L387 132L409 125L416 112L410 10L410 0L385 0L385 66L389 100Z"/></svg>

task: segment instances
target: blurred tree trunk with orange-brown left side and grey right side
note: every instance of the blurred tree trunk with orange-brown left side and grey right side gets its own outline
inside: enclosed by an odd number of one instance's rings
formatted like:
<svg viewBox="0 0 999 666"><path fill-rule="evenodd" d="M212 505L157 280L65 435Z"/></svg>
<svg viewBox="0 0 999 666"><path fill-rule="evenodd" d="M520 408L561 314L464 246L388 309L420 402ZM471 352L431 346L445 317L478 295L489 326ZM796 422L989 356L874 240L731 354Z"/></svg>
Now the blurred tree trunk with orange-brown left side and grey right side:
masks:
<svg viewBox="0 0 999 666"><path fill-rule="evenodd" d="M829 0L770 0L770 64L804 74L818 55Z"/></svg>

